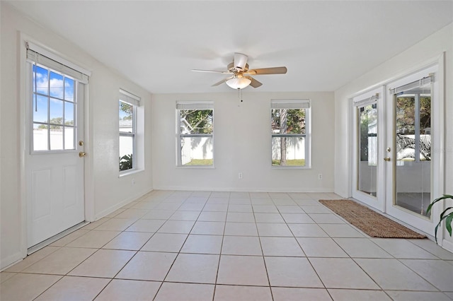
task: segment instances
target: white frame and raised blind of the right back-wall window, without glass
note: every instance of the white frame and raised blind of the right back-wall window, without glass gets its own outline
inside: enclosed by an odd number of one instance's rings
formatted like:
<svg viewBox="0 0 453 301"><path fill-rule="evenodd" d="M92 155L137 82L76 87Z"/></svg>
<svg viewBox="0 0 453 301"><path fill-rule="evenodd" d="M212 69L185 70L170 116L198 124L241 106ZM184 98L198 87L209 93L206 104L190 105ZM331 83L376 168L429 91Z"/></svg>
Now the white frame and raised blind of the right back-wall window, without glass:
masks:
<svg viewBox="0 0 453 301"><path fill-rule="evenodd" d="M305 134L281 134L272 132L272 112L278 109L305 110ZM311 100L270 100L270 164L273 169L310 169L311 168ZM273 138L304 138L305 165L272 165Z"/></svg>

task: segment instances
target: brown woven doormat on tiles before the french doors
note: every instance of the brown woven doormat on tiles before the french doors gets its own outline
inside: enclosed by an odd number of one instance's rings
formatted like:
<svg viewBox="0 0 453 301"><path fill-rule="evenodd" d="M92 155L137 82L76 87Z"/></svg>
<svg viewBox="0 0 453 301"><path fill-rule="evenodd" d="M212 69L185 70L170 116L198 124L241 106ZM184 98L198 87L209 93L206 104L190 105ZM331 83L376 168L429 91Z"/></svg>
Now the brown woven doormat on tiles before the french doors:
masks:
<svg viewBox="0 0 453 301"><path fill-rule="evenodd" d="M355 201L319 200L319 202L371 237L425 238L425 235L406 228Z"/></svg>

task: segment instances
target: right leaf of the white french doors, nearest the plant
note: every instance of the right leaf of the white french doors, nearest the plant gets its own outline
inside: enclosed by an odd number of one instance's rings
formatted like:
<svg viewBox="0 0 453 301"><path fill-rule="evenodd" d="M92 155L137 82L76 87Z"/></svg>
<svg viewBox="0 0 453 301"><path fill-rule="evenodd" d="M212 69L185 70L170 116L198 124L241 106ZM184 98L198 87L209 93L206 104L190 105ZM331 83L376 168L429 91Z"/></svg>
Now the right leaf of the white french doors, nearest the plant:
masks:
<svg viewBox="0 0 453 301"><path fill-rule="evenodd" d="M442 138L436 71L433 66L389 85L385 158L386 213L430 234L438 209L427 214L426 208L442 188L434 151Z"/></svg>

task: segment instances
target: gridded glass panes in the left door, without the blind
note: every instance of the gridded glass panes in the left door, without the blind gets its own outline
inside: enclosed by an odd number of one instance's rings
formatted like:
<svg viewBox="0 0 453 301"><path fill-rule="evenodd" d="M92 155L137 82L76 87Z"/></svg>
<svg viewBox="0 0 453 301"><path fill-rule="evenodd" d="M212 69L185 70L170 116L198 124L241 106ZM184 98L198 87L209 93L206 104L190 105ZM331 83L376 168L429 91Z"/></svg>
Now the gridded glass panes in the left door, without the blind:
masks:
<svg viewBox="0 0 453 301"><path fill-rule="evenodd" d="M32 76L32 150L74 151L77 81L36 63L32 66Z"/></svg>

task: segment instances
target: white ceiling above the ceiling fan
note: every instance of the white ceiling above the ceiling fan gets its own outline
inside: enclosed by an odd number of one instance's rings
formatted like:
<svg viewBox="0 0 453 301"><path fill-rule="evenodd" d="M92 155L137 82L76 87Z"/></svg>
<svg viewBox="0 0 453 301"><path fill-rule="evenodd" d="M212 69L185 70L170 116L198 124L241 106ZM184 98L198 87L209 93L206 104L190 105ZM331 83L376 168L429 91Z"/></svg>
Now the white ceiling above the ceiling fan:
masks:
<svg viewBox="0 0 453 301"><path fill-rule="evenodd" d="M453 21L453 1L9 1L151 93L212 93L234 52L253 91L333 91Z"/></svg>

